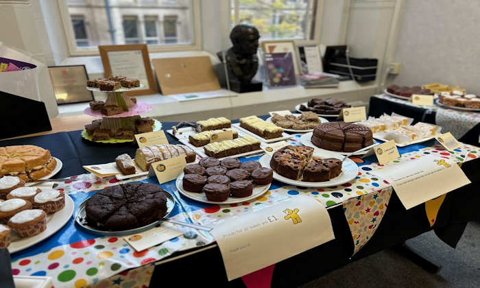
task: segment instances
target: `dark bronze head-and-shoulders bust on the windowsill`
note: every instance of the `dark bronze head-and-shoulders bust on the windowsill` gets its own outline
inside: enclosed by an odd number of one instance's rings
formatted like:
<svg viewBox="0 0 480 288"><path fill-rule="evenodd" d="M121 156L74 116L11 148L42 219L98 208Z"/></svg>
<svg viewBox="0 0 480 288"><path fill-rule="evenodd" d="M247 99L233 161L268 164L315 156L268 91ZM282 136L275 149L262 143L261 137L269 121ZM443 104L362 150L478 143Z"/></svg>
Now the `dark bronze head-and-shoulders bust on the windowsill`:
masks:
<svg viewBox="0 0 480 288"><path fill-rule="evenodd" d="M230 80L234 91L261 91L261 83L252 83L252 78L259 69L259 59L256 56L259 38L259 30L251 25L239 24L230 32L233 47L225 52L225 60L230 76L236 78ZM217 53L217 56L224 61L222 52Z"/></svg>

